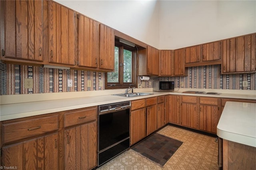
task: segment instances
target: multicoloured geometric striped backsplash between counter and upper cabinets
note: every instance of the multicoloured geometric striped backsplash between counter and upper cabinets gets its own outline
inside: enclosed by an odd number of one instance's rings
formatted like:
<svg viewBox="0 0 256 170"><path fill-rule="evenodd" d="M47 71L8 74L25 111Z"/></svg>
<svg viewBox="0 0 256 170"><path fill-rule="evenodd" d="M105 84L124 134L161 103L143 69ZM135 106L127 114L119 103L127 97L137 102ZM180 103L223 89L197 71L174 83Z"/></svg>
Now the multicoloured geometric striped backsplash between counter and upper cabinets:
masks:
<svg viewBox="0 0 256 170"><path fill-rule="evenodd" d="M174 81L175 88L184 82L183 88L191 89L247 89L256 90L256 73L229 74L220 73L220 65L189 67L188 76L151 77L149 81L138 83L143 88L152 87L152 81ZM70 91L104 90L104 72L50 69L27 65L0 64L0 95L56 93ZM24 88L24 79L33 79L33 89ZM73 86L68 87L68 79ZM102 81L102 86L99 86ZM248 87L242 87L242 81L248 81Z"/></svg>

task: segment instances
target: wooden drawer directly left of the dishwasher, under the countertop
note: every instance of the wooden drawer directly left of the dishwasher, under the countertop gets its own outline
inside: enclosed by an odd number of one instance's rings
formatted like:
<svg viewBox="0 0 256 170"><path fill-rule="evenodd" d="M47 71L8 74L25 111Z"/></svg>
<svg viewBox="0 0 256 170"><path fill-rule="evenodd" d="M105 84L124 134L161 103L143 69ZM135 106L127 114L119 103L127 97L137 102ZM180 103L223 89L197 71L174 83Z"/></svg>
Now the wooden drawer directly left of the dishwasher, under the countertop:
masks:
<svg viewBox="0 0 256 170"><path fill-rule="evenodd" d="M73 110L64 114L64 127L70 127L97 119L97 107Z"/></svg>

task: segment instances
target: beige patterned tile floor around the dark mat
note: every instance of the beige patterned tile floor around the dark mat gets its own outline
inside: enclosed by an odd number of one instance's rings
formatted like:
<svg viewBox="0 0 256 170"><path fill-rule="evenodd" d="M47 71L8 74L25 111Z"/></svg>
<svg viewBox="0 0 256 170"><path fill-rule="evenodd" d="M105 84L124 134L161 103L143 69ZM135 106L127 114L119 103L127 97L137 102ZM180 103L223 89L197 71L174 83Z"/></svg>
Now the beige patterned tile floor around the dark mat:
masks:
<svg viewBox="0 0 256 170"><path fill-rule="evenodd" d="M158 133L184 142L164 167L130 149L97 170L218 170L218 143L214 137L173 126Z"/></svg>

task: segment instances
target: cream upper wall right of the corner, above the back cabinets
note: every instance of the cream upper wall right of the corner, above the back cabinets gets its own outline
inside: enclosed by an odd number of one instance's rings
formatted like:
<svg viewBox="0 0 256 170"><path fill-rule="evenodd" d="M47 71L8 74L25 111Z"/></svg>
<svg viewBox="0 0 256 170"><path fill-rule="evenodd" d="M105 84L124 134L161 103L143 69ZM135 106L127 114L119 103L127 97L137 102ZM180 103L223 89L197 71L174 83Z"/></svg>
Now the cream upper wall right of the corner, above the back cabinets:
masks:
<svg viewBox="0 0 256 170"><path fill-rule="evenodd" d="M161 1L160 49L256 32L256 1Z"/></svg>

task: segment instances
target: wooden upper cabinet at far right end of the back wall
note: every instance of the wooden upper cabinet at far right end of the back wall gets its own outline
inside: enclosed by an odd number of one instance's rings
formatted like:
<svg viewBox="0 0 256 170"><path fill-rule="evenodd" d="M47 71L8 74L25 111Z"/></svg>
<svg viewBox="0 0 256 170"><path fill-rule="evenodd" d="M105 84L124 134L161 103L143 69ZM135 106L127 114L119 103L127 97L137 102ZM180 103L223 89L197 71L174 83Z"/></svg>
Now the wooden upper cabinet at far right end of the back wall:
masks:
<svg viewBox="0 0 256 170"><path fill-rule="evenodd" d="M222 73L251 73L256 71L256 34L223 40Z"/></svg>

